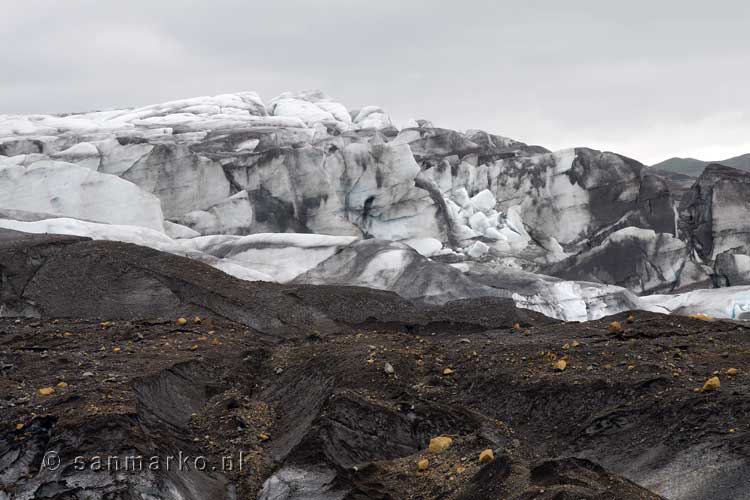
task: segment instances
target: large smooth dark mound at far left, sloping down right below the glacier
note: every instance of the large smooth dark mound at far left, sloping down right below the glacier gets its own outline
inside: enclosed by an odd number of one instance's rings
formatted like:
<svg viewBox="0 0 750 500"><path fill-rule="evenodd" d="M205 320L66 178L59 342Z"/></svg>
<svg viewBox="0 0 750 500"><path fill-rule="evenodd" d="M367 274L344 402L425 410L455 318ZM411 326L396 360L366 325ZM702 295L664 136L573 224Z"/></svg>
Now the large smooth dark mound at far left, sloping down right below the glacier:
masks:
<svg viewBox="0 0 750 500"><path fill-rule="evenodd" d="M296 308L301 315L290 312L282 320L258 303L264 292L257 285L145 247L13 232L4 232L0 245L5 316L134 319L211 312L267 333L325 320L304 306ZM281 289L274 292L266 298L279 307L295 302Z"/></svg>

